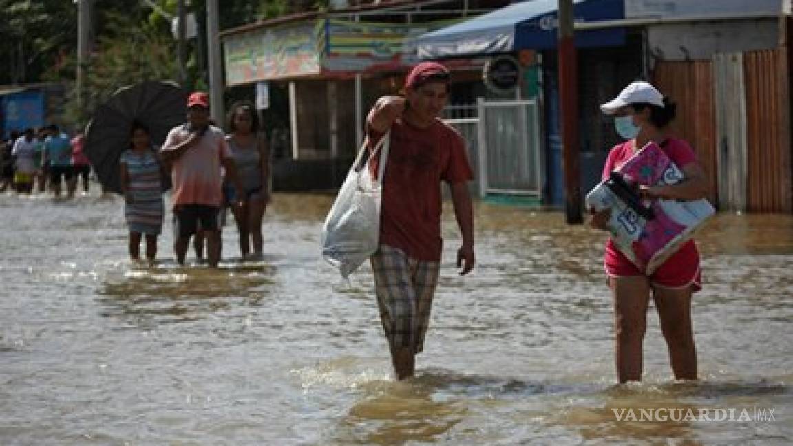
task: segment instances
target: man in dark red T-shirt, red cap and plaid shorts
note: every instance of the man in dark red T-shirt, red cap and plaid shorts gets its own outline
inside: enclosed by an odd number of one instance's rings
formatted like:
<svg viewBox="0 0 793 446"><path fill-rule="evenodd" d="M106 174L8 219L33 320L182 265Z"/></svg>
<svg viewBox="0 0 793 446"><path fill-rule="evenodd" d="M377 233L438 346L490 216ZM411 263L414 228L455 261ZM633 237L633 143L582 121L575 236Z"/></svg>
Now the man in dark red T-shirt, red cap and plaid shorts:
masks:
<svg viewBox="0 0 793 446"><path fill-rule="evenodd" d="M371 263L397 379L413 375L429 325L442 251L441 182L449 184L462 236L457 266L461 275L473 269L473 212L466 185L473 174L462 136L439 119L448 94L446 67L419 63L405 80L404 97L380 98L367 118L370 148L387 132L391 138L380 248Z"/></svg>

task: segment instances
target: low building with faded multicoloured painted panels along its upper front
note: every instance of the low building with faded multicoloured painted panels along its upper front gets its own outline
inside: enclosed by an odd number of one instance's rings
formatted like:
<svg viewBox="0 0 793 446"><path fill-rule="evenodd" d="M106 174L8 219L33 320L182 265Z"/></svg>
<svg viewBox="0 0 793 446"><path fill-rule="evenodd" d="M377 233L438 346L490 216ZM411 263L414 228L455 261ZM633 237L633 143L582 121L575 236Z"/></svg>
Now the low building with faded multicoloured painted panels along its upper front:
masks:
<svg viewBox="0 0 793 446"><path fill-rule="evenodd" d="M300 178L294 181L301 184L288 188L324 188L343 180L362 141L367 110L382 95L397 94L404 73L419 61L415 37L448 24L372 23L314 14L224 33L228 86L266 83L275 106L284 99L266 114L272 133L289 135L274 141L276 155L289 161L282 167L285 177ZM465 59L452 68L474 77L481 69Z"/></svg>

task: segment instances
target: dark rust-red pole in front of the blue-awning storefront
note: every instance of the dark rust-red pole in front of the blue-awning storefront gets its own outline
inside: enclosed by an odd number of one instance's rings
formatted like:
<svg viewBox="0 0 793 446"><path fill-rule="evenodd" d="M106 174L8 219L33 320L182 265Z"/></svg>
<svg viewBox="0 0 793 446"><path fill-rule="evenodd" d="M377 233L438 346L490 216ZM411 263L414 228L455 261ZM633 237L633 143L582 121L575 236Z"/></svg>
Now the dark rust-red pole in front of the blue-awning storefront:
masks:
<svg viewBox="0 0 793 446"><path fill-rule="evenodd" d="M565 172L565 221L584 222L578 167L578 79L573 0L559 0L559 102L561 145Z"/></svg>

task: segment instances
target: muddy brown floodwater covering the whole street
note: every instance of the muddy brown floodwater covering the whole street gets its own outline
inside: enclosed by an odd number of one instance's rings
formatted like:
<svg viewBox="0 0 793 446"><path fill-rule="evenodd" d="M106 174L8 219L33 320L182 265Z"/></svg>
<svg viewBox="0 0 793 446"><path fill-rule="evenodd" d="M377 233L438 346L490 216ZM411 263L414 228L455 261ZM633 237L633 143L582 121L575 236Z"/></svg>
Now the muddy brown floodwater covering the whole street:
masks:
<svg viewBox="0 0 793 446"><path fill-rule="evenodd" d="M793 217L700 234L698 383L673 382L651 304L645 382L615 386L603 233L478 204L460 278L447 212L425 352L396 383L369 267L345 283L318 256L330 204L276 194L265 259L211 271L175 265L170 221L155 267L130 263L118 198L0 194L0 444L793 444Z"/></svg>

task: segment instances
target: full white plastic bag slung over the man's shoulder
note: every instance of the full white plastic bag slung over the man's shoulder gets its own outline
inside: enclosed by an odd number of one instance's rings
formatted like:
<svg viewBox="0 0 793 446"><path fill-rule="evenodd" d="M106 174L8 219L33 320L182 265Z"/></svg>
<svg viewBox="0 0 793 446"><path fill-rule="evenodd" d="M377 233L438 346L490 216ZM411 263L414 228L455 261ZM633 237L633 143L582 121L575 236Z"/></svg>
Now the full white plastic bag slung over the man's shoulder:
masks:
<svg viewBox="0 0 793 446"><path fill-rule="evenodd" d="M383 174L389 156L390 137L386 133L361 166L366 144L358 151L347 179L336 196L322 227L322 256L339 268L344 279L377 251L380 242L380 204ZM372 178L369 163L382 150L377 178Z"/></svg>

